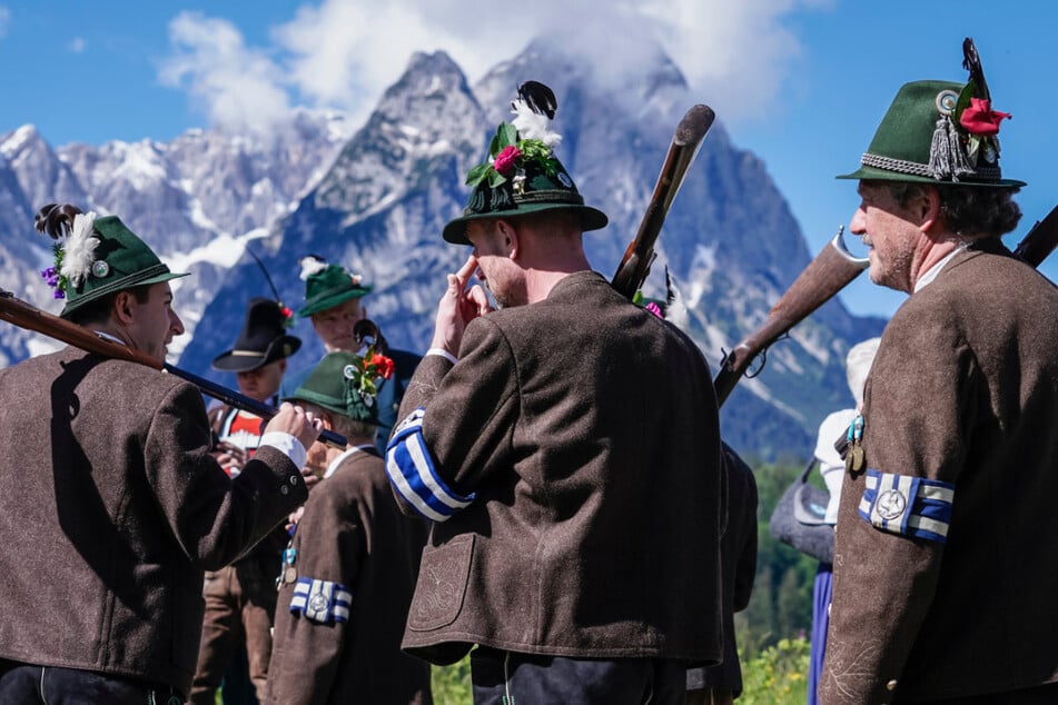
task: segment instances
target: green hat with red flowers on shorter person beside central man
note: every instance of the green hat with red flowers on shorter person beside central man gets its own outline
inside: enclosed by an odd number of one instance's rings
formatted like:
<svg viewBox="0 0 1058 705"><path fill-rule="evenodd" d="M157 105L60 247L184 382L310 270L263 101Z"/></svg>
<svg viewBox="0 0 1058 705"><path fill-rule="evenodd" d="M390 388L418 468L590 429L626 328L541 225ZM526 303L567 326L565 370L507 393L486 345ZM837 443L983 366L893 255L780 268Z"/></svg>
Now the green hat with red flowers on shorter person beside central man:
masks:
<svg viewBox="0 0 1058 705"><path fill-rule="evenodd" d="M368 351L360 357L353 352L330 352L319 361L308 378L284 401L303 400L354 421L378 425L377 380L388 364L383 356Z"/></svg>

